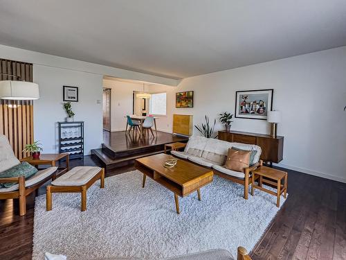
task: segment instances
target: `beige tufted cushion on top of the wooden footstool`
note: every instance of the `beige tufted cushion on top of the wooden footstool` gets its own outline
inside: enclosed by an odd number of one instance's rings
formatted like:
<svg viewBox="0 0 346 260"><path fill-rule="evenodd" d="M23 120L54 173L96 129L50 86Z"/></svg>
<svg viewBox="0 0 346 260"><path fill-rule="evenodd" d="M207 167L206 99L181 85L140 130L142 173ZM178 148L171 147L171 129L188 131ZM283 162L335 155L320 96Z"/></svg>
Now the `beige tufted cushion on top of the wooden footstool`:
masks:
<svg viewBox="0 0 346 260"><path fill-rule="evenodd" d="M78 166L52 182L53 186L82 186L101 171L100 167Z"/></svg>

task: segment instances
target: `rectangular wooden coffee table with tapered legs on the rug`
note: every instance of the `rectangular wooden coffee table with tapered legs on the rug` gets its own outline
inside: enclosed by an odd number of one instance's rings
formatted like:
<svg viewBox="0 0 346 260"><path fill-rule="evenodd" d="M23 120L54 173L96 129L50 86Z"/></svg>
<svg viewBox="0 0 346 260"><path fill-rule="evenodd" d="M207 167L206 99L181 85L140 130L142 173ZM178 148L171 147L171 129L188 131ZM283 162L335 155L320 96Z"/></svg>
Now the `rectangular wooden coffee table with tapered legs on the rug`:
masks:
<svg viewBox="0 0 346 260"><path fill-rule="evenodd" d="M146 177L152 178L163 187L174 193L176 213L179 214L179 198L197 191L198 199L201 200L200 188L212 182L214 173L210 169L197 166L190 162L178 159L173 168L165 168L165 160L176 159L171 155L160 153L136 159L135 166L138 171L143 173L143 188L145 187Z"/></svg>

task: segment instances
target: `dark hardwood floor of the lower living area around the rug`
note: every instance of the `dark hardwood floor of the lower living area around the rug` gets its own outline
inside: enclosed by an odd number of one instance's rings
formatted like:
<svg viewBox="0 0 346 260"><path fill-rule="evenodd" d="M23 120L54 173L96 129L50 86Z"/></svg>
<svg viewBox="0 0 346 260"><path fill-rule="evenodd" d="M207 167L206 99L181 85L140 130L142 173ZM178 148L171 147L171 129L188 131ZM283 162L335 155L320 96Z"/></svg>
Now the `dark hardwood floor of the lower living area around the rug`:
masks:
<svg viewBox="0 0 346 260"><path fill-rule="evenodd" d="M71 166L97 165L90 156ZM107 176L134 170L117 168ZM289 197L262 240L253 259L346 259L346 184L289 171ZM39 195L45 188L39 189ZM18 202L0 200L0 259L31 259L35 198L28 198L26 216Z"/></svg>

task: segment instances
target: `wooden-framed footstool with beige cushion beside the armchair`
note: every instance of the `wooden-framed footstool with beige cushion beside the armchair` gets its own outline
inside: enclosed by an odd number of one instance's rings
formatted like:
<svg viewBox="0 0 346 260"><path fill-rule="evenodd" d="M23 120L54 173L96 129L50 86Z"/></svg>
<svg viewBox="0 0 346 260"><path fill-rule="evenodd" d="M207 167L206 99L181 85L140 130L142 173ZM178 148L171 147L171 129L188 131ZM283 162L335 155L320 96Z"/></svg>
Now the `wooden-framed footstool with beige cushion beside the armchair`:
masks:
<svg viewBox="0 0 346 260"><path fill-rule="evenodd" d="M81 211L86 210L86 190L101 179L101 188L104 188L104 168L95 166L78 166L54 180L47 186L46 209L52 210L52 193L80 192L82 194Z"/></svg>

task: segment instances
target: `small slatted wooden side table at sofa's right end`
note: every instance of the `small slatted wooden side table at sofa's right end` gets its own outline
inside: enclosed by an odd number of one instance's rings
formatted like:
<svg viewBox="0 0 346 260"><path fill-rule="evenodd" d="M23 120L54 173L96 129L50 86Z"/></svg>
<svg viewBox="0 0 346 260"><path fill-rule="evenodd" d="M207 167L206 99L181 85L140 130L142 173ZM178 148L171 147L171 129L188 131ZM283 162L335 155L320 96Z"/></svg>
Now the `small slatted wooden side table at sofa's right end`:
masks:
<svg viewBox="0 0 346 260"><path fill-rule="evenodd" d="M280 207L280 196L284 193L284 198L287 195L287 173L286 171L280 171L275 168L270 168L266 166L260 166L255 171L252 171L253 175L251 177L251 195L253 196L254 189L260 189L261 191L265 191L273 196L276 196L276 207ZM255 185L256 175L260 176L258 185ZM266 177L270 180L266 180L263 177ZM281 184L281 180L284 179L284 184ZM268 183L276 187L277 193L273 191L269 191L268 189L264 189L262 187L262 183Z"/></svg>

